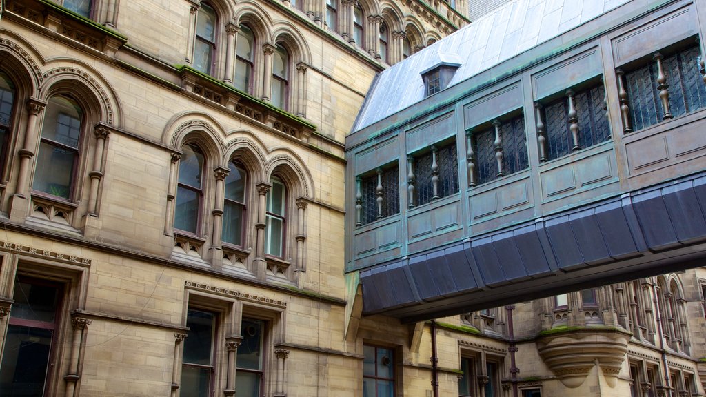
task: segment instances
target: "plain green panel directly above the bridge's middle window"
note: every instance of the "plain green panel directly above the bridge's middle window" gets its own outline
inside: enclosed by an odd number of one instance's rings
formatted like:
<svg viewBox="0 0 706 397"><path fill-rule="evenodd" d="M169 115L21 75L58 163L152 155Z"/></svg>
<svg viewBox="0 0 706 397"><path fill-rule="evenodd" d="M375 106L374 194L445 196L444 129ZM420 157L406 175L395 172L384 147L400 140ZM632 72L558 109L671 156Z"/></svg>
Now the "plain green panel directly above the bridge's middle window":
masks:
<svg viewBox="0 0 706 397"><path fill-rule="evenodd" d="M486 95L464 107L465 129L487 122L518 107L522 107L522 88L519 84Z"/></svg>

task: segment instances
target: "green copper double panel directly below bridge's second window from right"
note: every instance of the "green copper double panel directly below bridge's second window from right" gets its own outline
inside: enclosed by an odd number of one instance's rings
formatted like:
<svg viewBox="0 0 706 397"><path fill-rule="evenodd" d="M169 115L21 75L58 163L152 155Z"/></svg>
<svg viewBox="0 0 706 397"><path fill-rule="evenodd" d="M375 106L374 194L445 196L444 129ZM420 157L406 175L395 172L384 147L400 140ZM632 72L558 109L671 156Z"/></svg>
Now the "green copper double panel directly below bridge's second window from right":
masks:
<svg viewBox="0 0 706 397"><path fill-rule="evenodd" d="M548 167L540 167L539 174L543 201L572 196L618 180L611 143L567 156Z"/></svg>

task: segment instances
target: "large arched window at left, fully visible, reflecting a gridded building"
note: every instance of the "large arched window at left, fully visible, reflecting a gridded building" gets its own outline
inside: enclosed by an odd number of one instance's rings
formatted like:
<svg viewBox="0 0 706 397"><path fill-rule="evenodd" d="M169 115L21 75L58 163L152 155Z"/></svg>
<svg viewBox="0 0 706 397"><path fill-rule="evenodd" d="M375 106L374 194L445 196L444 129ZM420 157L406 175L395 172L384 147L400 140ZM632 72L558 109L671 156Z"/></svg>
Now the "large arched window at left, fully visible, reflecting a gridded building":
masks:
<svg viewBox="0 0 706 397"><path fill-rule="evenodd" d="M32 189L71 199L82 121L83 111L74 100L64 95L49 99Z"/></svg>

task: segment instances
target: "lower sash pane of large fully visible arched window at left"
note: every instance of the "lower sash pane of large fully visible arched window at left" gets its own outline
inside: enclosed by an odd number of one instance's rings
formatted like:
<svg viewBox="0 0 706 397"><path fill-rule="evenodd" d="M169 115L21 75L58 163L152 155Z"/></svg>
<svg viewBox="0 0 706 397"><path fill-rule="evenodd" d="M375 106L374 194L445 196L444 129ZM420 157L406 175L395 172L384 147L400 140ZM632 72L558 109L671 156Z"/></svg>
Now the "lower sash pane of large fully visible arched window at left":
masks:
<svg viewBox="0 0 706 397"><path fill-rule="evenodd" d="M49 143L40 144L32 189L52 196L69 198L76 153Z"/></svg>

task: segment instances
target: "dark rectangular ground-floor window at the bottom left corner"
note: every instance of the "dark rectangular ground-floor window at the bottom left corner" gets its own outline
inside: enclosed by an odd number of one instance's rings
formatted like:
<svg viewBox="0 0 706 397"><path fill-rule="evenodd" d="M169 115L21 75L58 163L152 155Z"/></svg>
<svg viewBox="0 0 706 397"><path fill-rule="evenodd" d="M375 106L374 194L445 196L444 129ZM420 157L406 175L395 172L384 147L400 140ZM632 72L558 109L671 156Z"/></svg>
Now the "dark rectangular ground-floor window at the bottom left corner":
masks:
<svg viewBox="0 0 706 397"><path fill-rule="evenodd" d="M61 285L20 277L13 300L0 362L0 391L8 397L42 396L56 344Z"/></svg>

